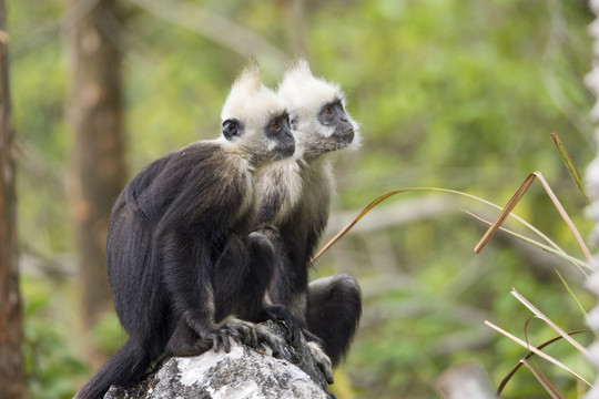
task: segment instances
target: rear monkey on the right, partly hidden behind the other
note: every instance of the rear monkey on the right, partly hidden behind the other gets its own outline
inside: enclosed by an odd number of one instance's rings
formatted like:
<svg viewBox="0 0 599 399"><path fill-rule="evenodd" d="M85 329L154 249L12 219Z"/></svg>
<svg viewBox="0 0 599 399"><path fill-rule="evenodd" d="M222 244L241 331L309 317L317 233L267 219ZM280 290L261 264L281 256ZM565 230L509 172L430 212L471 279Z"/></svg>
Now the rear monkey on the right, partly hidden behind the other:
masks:
<svg viewBox="0 0 599 399"><path fill-rule="evenodd" d="M278 229L276 266L266 301L294 317L329 383L332 368L347 354L362 313L361 289L347 274L308 284L311 258L326 227L334 191L332 156L359 145L357 123L345 111L337 84L313 76L307 61L292 64L278 86L292 114L294 157L262 168L256 175L255 225ZM322 350L321 350L322 349ZM323 354L324 350L324 354Z"/></svg>

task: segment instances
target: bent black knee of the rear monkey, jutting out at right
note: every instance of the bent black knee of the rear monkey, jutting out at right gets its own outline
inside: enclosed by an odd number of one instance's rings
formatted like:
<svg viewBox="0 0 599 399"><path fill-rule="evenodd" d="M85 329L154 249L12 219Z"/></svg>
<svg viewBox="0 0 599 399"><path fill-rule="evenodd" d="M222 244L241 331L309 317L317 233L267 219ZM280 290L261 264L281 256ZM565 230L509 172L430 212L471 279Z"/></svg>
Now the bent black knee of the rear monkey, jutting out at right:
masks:
<svg viewBox="0 0 599 399"><path fill-rule="evenodd" d="M362 314L362 295L354 277L338 274L308 285L308 330L322 339L337 366L347 354Z"/></svg>

